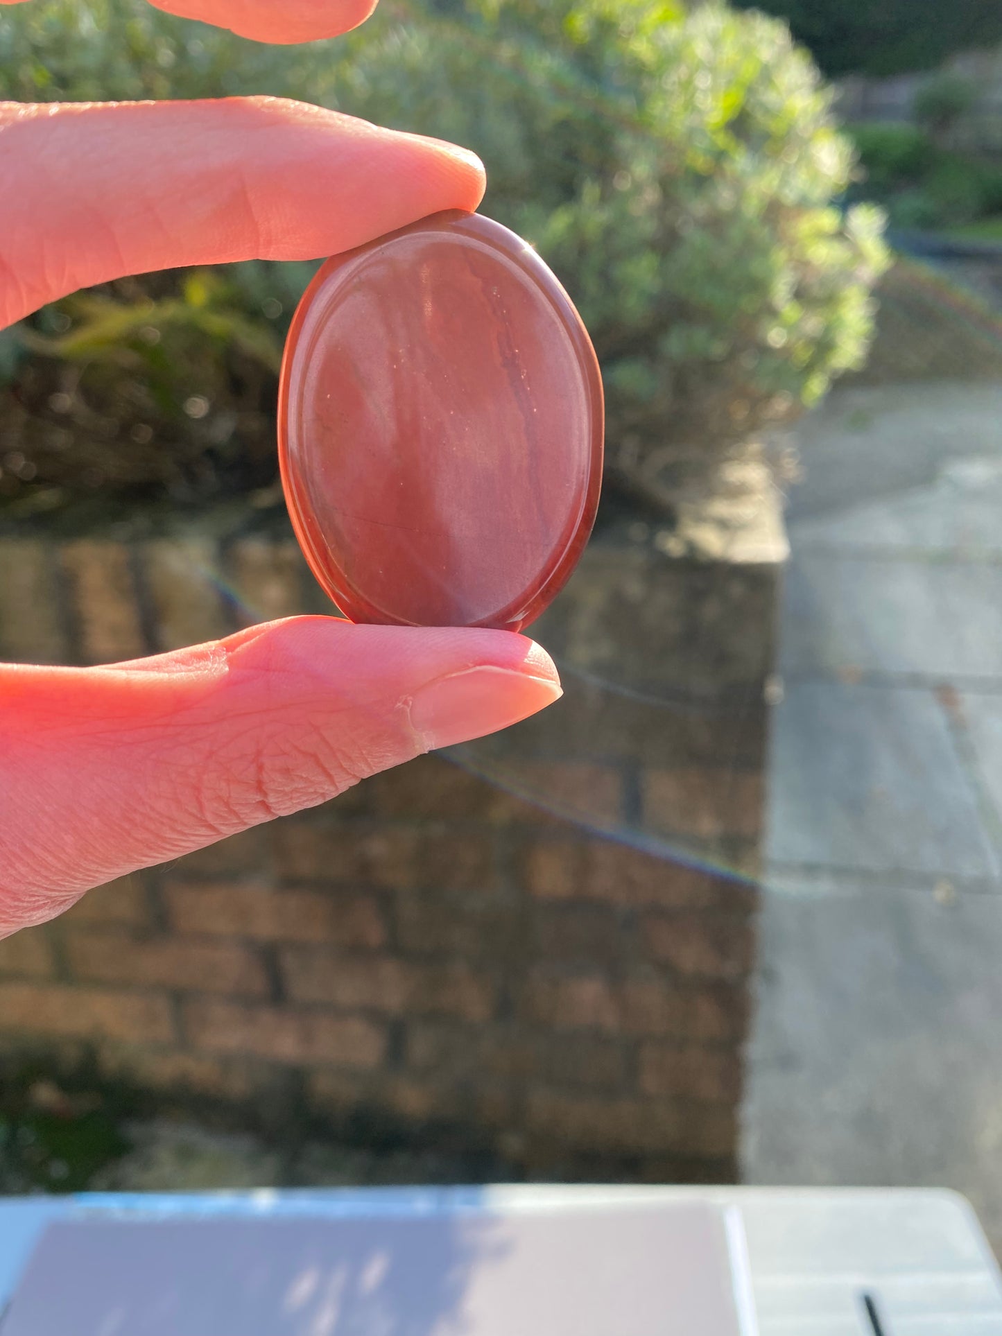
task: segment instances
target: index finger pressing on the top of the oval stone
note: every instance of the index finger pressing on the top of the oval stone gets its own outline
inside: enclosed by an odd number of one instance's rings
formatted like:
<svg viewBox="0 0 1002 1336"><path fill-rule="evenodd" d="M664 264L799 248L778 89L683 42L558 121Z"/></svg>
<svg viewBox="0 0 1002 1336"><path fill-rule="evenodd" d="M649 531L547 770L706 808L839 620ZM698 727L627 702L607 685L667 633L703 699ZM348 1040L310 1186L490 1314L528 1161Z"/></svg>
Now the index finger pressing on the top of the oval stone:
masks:
<svg viewBox="0 0 1002 1336"><path fill-rule="evenodd" d="M318 259L445 208L484 168L438 140L279 98L0 102L0 329L79 287Z"/></svg>

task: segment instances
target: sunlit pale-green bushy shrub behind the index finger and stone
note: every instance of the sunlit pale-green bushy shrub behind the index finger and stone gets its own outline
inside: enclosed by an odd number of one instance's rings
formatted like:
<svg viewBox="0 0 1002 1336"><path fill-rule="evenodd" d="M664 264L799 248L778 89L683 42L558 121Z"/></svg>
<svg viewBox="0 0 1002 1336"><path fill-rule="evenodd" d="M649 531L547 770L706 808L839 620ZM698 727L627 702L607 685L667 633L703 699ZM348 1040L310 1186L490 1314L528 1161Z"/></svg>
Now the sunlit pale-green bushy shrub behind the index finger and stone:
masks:
<svg viewBox="0 0 1002 1336"><path fill-rule="evenodd" d="M835 207L854 156L831 94L786 27L758 13L383 0L338 43L278 49L142 0L36 0L0 11L0 88L271 92L474 148L485 212L532 240L581 309L607 381L611 458L635 473L719 458L866 355L882 218ZM274 330L263 273L231 273L243 305L230 314ZM135 363L131 374L143 375ZM184 378L174 397L190 394Z"/></svg>

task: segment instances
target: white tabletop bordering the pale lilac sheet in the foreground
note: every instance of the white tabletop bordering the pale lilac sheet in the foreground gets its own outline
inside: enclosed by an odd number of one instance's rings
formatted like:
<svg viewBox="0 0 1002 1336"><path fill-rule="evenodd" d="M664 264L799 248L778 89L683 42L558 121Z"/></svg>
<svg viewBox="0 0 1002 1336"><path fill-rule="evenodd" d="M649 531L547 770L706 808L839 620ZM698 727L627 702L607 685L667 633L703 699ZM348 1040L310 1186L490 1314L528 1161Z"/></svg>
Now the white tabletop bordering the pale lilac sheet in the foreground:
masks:
<svg viewBox="0 0 1002 1336"><path fill-rule="evenodd" d="M926 1189L498 1186L11 1198L0 1201L0 1303L45 1225L81 1212L371 1218L693 1200L740 1216L760 1336L875 1336L864 1295L883 1336L1002 1336L1002 1277L973 1210L954 1193Z"/></svg>

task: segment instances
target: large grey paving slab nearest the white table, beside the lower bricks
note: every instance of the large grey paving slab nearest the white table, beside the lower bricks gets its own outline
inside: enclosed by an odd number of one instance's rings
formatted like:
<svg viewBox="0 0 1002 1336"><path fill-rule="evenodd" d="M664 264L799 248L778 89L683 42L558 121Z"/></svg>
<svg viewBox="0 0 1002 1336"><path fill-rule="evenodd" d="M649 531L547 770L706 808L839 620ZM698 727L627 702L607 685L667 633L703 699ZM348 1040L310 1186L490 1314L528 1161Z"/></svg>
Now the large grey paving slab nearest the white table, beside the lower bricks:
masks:
<svg viewBox="0 0 1002 1336"><path fill-rule="evenodd" d="M766 896L755 1184L938 1185L1002 1248L1002 898Z"/></svg>

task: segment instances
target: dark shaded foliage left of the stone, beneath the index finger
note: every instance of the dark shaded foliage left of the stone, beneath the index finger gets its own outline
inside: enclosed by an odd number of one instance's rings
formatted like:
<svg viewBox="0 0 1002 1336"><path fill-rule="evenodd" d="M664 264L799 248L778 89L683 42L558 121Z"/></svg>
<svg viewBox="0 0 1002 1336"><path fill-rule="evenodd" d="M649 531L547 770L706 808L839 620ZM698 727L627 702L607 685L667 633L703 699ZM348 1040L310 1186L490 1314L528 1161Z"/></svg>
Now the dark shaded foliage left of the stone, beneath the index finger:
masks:
<svg viewBox="0 0 1002 1336"><path fill-rule="evenodd" d="M282 341L250 306L250 283L231 275L124 281L76 293L31 322L16 393L0 407L0 494L51 506L267 488Z"/></svg>

